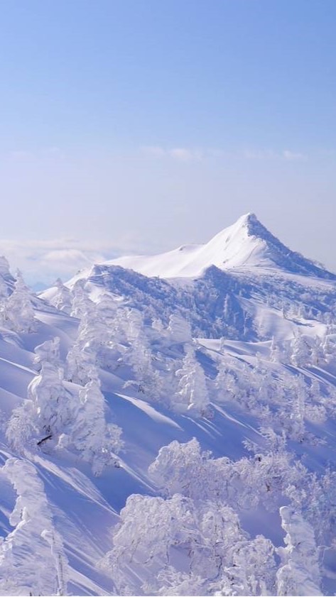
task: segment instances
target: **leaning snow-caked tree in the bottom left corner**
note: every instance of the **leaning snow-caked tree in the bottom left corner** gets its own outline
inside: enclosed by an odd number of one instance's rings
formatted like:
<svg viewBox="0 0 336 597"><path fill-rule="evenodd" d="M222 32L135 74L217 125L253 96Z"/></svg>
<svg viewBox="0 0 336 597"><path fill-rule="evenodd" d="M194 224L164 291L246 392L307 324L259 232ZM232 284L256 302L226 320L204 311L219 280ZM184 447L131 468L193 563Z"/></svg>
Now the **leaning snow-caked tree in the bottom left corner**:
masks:
<svg viewBox="0 0 336 597"><path fill-rule="evenodd" d="M14 528L0 540L1 595L67 595L67 557L36 467L12 458L0 476L18 495L9 517Z"/></svg>

